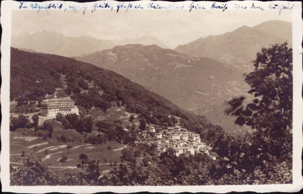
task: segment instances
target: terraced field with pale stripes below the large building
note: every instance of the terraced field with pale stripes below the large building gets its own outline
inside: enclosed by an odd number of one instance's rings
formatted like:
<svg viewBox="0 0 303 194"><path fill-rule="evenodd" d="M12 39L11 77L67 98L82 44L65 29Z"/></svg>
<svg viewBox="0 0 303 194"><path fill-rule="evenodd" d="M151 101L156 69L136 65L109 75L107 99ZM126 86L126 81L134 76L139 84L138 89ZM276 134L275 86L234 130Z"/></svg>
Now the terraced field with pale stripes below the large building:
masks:
<svg viewBox="0 0 303 194"><path fill-rule="evenodd" d="M26 132L26 136L24 132ZM61 136L62 134L69 134L72 137L76 137L76 140L67 143L57 141L56 136ZM102 173L108 173L114 167L114 163L120 163L121 150L127 147L124 144L113 141L95 145L81 143L79 140L82 139L83 142L84 138L75 130L54 131L53 138L47 141L34 135L35 132L31 129L17 129L11 132L10 163L13 167L23 165L21 153L24 151L33 153L52 170L77 172L81 171L81 169L77 168L77 164L80 163L79 154L85 153L89 160L99 160ZM68 144L72 144L72 148L67 149ZM68 159L66 162L61 163L60 159L63 155L67 156ZM140 160L138 160L139 162Z"/></svg>

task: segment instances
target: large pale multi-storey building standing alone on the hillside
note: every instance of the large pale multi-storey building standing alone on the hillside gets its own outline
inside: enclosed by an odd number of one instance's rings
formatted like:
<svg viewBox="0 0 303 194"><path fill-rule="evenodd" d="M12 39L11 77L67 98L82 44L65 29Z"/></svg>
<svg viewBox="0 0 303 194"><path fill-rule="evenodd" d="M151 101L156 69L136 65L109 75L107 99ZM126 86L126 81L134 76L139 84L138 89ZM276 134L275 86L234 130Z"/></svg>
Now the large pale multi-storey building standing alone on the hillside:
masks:
<svg viewBox="0 0 303 194"><path fill-rule="evenodd" d="M76 114L79 115L79 109L71 98L46 99L41 102L41 116L56 117L58 113L62 115Z"/></svg>

